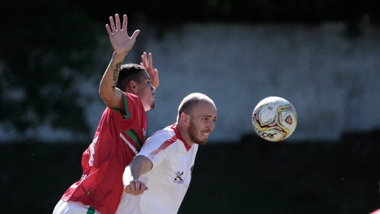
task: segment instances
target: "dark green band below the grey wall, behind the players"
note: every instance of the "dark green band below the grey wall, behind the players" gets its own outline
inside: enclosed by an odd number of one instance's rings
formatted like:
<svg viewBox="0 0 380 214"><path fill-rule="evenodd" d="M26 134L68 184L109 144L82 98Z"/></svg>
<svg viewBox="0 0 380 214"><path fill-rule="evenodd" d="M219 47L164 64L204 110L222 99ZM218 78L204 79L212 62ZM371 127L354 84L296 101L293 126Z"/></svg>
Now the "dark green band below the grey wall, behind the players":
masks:
<svg viewBox="0 0 380 214"><path fill-rule="evenodd" d="M370 213L380 208L378 133L341 142L200 146L179 213ZM0 146L2 213L51 213L82 175L88 145Z"/></svg>

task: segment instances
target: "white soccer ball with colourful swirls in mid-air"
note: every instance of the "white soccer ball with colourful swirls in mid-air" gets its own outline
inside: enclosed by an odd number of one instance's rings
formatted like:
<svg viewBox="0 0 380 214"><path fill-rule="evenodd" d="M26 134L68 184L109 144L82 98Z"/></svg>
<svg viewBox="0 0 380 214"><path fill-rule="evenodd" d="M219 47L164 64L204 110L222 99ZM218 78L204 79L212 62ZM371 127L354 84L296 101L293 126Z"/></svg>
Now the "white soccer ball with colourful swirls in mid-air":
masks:
<svg viewBox="0 0 380 214"><path fill-rule="evenodd" d="M296 109L286 99L267 97L254 108L252 125L261 138L280 142L292 135L296 129Z"/></svg>

